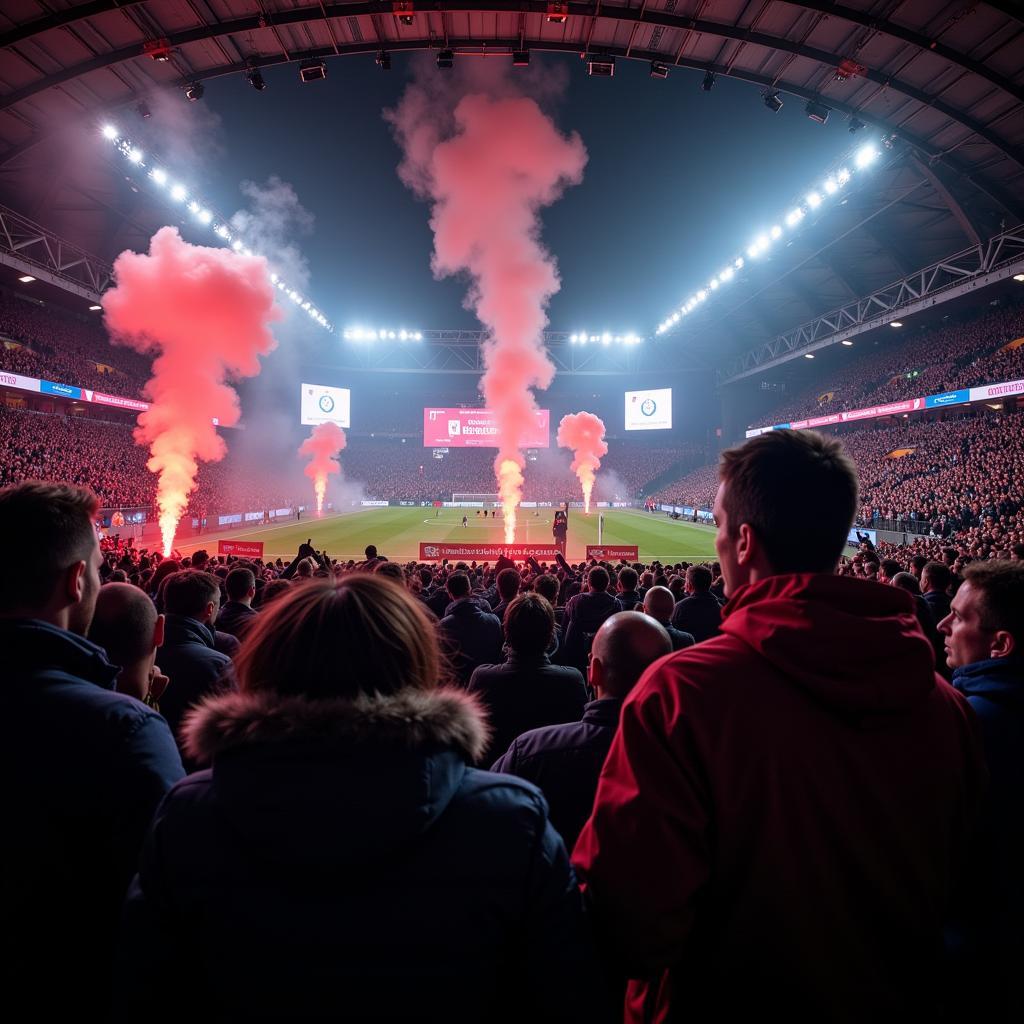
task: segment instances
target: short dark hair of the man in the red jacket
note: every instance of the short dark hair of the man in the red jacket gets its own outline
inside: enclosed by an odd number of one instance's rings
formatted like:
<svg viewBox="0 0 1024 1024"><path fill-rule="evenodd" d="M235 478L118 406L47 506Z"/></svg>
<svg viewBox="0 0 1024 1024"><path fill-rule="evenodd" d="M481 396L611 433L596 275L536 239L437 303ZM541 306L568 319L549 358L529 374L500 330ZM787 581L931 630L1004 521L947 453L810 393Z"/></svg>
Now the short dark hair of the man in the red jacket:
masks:
<svg viewBox="0 0 1024 1024"><path fill-rule="evenodd" d="M769 430L722 453L730 536L745 522L776 572L831 572L857 512L857 469L838 440Z"/></svg>

